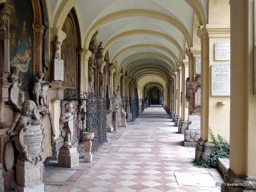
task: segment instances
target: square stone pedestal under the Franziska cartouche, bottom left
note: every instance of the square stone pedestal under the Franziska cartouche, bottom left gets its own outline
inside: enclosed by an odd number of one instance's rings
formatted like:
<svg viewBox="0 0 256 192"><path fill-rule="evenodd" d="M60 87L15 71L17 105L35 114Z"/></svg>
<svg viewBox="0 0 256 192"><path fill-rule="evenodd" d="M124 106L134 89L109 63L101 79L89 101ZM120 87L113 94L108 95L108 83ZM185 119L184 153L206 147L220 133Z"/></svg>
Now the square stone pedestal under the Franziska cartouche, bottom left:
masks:
<svg viewBox="0 0 256 192"><path fill-rule="evenodd" d="M17 192L44 192L43 183L44 164L33 164L28 161L17 160Z"/></svg>

